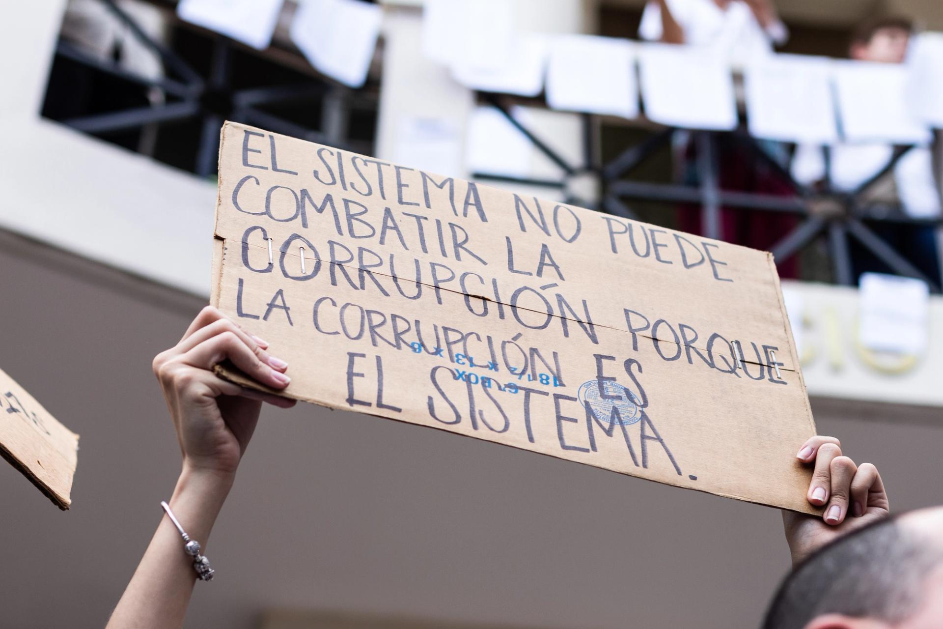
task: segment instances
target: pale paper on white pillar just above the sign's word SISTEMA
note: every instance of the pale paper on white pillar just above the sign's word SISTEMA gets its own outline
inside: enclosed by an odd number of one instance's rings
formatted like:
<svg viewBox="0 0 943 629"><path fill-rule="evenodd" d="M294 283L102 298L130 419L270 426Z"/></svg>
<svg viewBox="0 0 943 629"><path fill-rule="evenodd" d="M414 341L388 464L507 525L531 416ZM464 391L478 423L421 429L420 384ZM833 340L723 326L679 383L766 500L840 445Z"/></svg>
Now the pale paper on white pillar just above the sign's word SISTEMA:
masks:
<svg viewBox="0 0 943 629"><path fill-rule="evenodd" d="M448 118L405 118L396 136L394 161L427 173L461 177L462 141Z"/></svg>

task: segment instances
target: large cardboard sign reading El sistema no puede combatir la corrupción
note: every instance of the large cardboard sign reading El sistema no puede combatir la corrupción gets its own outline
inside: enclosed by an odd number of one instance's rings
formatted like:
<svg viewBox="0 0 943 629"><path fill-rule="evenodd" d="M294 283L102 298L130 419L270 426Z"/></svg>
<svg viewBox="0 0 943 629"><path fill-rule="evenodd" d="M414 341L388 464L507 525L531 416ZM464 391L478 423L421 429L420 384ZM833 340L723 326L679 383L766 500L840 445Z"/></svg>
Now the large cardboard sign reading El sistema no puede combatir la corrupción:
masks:
<svg viewBox="0 0 943 629"><path fill-rule="evenodd" d="M216 239L290 397L814 512L767 253L233 123Z"/></svg>

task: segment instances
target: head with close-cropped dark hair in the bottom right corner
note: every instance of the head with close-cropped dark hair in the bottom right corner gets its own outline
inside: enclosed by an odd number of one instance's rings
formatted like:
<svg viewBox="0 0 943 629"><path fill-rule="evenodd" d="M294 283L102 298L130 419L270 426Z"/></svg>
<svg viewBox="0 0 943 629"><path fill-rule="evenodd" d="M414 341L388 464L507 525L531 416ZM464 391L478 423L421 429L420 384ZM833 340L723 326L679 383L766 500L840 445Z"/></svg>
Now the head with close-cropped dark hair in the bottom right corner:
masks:
<svg viewBox="0 0 943 629"><path fill-rule="evenodd" d="M763 626L943 626L943 507L874 522L821 548L786 577Z"/></svg>

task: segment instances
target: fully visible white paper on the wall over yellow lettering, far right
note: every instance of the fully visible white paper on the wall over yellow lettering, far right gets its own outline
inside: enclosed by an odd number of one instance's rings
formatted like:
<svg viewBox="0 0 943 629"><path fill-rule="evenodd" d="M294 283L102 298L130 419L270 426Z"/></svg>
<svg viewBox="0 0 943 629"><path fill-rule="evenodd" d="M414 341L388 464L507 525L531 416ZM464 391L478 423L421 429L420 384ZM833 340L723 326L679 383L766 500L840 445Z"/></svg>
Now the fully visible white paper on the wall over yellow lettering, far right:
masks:
<svg viewBox="0 0 943 629"><path fill-rule="evenodd" d="M861 343L874 351L922 355L927 348L930 291L910 277L863 273Z"/></svg>

